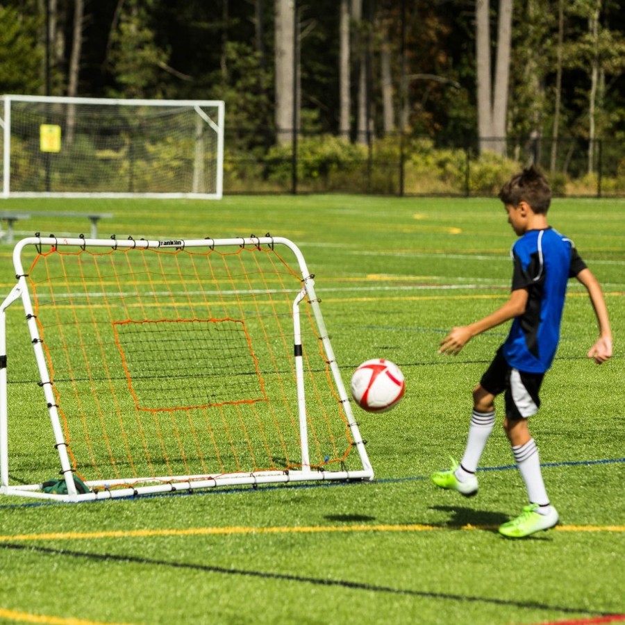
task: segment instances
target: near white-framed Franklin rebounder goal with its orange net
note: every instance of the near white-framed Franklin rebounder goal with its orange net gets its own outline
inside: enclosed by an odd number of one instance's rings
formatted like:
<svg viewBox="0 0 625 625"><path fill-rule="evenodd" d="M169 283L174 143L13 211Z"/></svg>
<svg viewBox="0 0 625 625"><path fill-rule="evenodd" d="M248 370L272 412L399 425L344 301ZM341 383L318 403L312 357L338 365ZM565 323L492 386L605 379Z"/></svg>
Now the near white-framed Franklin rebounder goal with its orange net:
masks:
<svg viewBox="0 0 625 625"><path fill-rule="evenodd" d="M1 493L84 501L373 478L290 240L32 237L13 263ZM36 367L7 349L16 301Z"/></svg>

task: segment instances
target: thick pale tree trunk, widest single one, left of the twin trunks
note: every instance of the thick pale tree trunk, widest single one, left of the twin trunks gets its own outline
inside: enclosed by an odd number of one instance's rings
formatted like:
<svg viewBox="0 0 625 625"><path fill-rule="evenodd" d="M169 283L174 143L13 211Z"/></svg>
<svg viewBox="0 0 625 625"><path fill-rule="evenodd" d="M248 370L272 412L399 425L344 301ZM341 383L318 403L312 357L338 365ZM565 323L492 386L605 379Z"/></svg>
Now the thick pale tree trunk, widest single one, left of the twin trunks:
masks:
<svg viewBox="0 0 625 625"><path fill-rule="evenodd" d="M276 137L289 143L295 127L293 72L294 5L276 0Z"/></svg>

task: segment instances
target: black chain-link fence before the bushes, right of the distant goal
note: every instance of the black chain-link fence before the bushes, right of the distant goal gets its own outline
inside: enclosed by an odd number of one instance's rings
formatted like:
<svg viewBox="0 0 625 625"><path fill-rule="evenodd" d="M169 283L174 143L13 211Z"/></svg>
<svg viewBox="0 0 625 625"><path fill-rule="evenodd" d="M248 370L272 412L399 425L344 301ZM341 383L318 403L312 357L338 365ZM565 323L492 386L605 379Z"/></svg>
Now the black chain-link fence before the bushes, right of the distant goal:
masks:
<svg viewBox="0 0 625 625"><path fill-rule="evenodd" d="M350 140L319 133L269 136L227 129L226 194L351 193L485 197L535 163L558 197L625 197L622 141L497 138L437 142L396 133Z"/></svg>

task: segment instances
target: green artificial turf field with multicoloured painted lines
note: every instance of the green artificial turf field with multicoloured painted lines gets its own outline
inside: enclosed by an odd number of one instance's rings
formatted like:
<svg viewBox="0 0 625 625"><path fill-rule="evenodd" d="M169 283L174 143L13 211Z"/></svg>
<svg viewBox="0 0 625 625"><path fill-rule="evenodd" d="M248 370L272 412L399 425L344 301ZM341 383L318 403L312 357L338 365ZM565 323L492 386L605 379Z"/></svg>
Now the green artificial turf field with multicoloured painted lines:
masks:
<svg viewBox="0 0 625 625"><path fill-rule="evenodd" d="M451 326L508 297L515 235L498 200L49 199L7 200L3 208L113 213L99 224L103 238L267 231L290 238L316 276L345 383L363 360L385 357L403 370L407 391L391 412L356 412L373 483L210 489L81 504L0 497L0 619L625 622L625 201L557 199L549 213L603 285L615 354L601 367L585 357L597 330L590 301L572 281L560 349L530 426L560 525L524 540L497 533L526 504L501 427L484 453L477 497L442 492L428 479L448 465L449 455L461 456L472 387L506 335L501 326L455 358L437 353ZM86 223L50 217L18 227L76 235ZM15 283L11 249L0 246L5 294ZM9 309L9 330L25 334L18 308ZM10 363L33 356L28 346L12 353L12 345L10 336L9 399L17 394L19 401L9 403L9 419L27 423L31 400L17 391ZM32 402L41 401L35 392ZM501 422L500 402L497 408ZM17 481L24 453L10 449L10 476ZM36 451L28 453L33 462Z"/></svg>

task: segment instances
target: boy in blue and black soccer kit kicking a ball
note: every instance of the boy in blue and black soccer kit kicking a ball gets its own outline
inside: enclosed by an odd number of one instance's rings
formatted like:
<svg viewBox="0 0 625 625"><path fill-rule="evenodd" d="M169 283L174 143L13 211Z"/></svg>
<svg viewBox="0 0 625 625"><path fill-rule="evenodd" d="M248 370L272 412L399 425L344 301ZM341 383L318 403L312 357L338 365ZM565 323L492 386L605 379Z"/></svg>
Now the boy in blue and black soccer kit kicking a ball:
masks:
<svg viewBox="0 0 625 625"><path fill-rule="evenodd" d="M560 322L567 280L576 277L586 288L599 324L599 339L588 351L600 365L612 356L612 333L601 287L578 256L569 239L547 223L551 190L534 167L513 176L503 185L499 199L506 207L508 223L519 236L512 247L514 270L510 299L491 315L468 326L452 328L440 342L439 353L457 354L469 339L514 319L508 338L474 388L474 407L467 447L458 465L436 472L432 481L457 490L465 497L478 491L476 469L495 421L494 398L504 393L503 429L529 499L522 514L499 527L508 537L523 537L558 523L558 512L549 503L542 481L538 449L528 430L528 417L540 407L538 392L544 373L551 367L560 338Z"/></svg>

